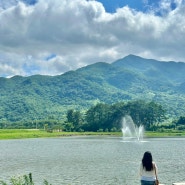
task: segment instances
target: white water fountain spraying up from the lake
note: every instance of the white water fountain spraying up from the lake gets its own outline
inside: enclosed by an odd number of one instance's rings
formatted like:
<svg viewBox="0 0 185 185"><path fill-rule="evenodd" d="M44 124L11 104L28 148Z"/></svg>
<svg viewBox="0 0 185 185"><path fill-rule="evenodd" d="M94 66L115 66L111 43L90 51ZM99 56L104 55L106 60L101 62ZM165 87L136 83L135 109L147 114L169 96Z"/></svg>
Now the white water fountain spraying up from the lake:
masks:
<svg viewBox="0 0 185 185"><path fill-rule="evenodd" d="M144 127L140 125L139 127L134 124L130 116L125 116L122 119L122 134L124 139L136 139L140 141L143 139Z"/></svg>

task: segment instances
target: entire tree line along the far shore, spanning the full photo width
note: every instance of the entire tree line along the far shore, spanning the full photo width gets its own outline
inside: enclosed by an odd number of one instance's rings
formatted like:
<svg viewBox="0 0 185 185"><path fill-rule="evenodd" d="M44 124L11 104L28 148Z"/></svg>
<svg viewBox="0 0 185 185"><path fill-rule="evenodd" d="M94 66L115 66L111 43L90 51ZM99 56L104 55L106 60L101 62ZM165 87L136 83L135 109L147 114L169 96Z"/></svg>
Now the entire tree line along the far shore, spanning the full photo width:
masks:
<svg viewBox="0 0 185 185"><path fill-rule="evenodd" d="M169 125L159 125L166 119L165 109L158 103L144 100L118 102L115 104L98 103L86 111L69 109L64 119L54 116L40 120L25 120L16 123L1 122L0 128L36 128L47 131L68 132L116 132L121 131L124 116L131 116L133 122L143 125L145 130L185 129L185 117L174 120Z"/></svg>

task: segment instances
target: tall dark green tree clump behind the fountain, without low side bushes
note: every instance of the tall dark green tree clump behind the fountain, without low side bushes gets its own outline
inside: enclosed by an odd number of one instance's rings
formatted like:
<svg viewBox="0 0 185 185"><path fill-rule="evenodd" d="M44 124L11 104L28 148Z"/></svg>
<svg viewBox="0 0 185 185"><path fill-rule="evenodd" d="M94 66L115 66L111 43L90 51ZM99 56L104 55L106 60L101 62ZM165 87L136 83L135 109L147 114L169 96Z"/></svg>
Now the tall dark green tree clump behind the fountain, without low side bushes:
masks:
<svg viewBox="0 0 185 185"><path fill-rule="evenodd" d="M84 114L68 110L66 124L70 131L120 131L121 120L126 115L130 115L136 125L143 125L150 130L165 119L165 110L153 101L138 100L112 105L98 103Z"/></svg>

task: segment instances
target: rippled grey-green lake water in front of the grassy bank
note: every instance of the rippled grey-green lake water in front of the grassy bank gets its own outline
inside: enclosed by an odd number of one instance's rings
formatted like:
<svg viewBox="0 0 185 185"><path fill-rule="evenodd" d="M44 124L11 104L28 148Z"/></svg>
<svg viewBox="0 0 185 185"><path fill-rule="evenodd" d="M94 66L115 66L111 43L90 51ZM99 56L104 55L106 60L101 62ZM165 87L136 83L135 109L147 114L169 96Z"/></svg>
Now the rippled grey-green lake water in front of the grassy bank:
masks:
<svg viewBox="0 0 185 185"><path fill-rule="evenodd" d="M152 152L159 180L185 180L185 138L82 136L0 141L0 180L32 173L35 185L138 185L143 153Z"/></svg>

